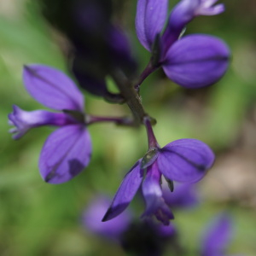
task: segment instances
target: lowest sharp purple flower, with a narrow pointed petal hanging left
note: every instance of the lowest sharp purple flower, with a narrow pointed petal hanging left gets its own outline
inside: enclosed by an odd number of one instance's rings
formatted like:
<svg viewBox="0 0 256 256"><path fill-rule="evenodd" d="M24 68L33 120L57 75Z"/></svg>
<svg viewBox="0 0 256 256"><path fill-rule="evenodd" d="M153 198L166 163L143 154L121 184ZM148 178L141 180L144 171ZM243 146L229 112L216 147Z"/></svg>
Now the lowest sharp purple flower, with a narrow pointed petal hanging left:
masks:
<svg viewBox="0 0 256 256"><path fill-rule="evenodd" d="M103 221L115 218L123 212L142 184L146 201L143 216L154 215L163 224L169 224L173 214L163 198L161 176L171 183L195 183L204 177L213 161L211 148L195 139L180 139L164 148L149 147L143 159L138 160L126 174Z"/></svg>

